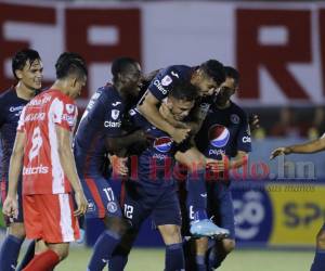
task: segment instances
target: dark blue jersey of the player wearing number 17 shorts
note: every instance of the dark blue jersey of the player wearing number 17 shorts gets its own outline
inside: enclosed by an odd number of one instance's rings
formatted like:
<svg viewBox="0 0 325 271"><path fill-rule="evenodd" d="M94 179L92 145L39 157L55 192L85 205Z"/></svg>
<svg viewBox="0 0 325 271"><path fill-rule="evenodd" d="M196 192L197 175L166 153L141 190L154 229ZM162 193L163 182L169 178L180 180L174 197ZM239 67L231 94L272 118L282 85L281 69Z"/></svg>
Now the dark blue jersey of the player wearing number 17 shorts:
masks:
<svg viewBox="0 0 325 271"><path fill-rule="evenodd" d="M122 136L125 103L113 86L100 88L91 98L78 127L74 153L80 176L101 176L107 165L105 138Z"/></svg>

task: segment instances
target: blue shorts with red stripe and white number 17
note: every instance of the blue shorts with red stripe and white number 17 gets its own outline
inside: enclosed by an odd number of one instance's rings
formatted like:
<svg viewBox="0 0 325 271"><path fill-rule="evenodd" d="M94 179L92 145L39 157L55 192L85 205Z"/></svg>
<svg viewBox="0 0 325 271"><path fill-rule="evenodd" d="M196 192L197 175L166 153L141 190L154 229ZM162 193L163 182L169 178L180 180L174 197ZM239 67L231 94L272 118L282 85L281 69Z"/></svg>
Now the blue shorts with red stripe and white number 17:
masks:
<svg viewBox="0 0 325 271"><path fill-rule="evenodd" d="M81 179L81 185L88 201L86 218L122 216L119 197L116 196L109 182L101 176Z"/></svg>

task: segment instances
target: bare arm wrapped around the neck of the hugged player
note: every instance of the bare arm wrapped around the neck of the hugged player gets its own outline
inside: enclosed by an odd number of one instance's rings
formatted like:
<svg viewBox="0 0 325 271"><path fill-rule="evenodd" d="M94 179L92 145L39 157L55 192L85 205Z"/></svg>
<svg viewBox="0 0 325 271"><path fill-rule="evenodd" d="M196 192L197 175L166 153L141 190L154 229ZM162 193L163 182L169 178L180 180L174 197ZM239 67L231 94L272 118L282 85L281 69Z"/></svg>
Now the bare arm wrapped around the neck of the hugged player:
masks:
<svg viewBox="0 0 325 271"><path fill-rule="evenodd" d="M139 112L155 127L170 134L172 139L180 143L187 138L190 129L176 128L164 119L158 111L158 101L150 91L144 96L144 100L138 105Z"/></svg>

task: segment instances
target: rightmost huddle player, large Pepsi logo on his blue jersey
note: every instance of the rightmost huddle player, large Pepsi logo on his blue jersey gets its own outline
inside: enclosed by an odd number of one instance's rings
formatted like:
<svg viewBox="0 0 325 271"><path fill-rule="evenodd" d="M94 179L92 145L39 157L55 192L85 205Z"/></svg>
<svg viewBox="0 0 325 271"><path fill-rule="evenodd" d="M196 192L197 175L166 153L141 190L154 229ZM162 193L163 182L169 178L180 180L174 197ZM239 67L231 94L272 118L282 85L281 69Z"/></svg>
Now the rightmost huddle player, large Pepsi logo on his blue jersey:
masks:
<svg viewBox="0 0 325 271"><path fill-rule="evenodd" d="M235 247L234 209L227 171L245 165L251 151L251 143L248 117L231 100L238 89L239 74L233 67L224 67L224 70L226 79L220 88L216 102L210 106L195 141L206 157L220 162L208 165L210 166L206 175L208 215L213 217L217 224L227 229L230 234L221 241L208 242L203 237L188 242L185 255L188 256L186 262L192 262L186 267L190 271L219 268ZM191 215L193 216L193 212L190 210ZM196 254L195 262L191 250Z"/></svg>

